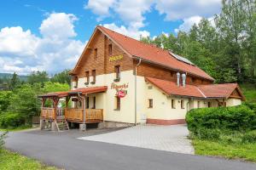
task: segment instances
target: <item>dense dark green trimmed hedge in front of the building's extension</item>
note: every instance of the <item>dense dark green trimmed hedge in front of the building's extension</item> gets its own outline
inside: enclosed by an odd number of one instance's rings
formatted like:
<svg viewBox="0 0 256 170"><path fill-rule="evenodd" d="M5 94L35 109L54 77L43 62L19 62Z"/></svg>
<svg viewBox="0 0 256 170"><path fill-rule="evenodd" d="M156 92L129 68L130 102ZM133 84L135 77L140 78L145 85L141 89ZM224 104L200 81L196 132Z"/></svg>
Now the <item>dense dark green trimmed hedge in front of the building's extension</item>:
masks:
<svg viewBox="0 0 256 170"><path fill-rule="evenodd" d="M256 111L253 111L256 107L254 106L195 109L188 112L186 122L192 133L199 133L200 129L253 130L256 129Z"/></svg>

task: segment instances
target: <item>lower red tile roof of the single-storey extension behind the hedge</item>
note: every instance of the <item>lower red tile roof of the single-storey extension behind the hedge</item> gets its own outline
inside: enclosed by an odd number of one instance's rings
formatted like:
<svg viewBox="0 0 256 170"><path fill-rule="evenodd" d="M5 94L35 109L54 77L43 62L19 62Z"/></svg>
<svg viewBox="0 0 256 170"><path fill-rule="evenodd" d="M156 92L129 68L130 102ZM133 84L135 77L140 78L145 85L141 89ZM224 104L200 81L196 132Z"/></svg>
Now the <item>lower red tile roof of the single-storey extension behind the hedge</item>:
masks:
<svg viewBox="0 0 256 170"><path fill-rule="evenodd" d="M169 82L166 80L160 80L157 78L146 77L146 81L151 82L157 88L160 88L163 92L168 95L179 95L188 96L195 98L229 98L230 94L237 88L240 93L241 90L237 83L226 83L226 84L209 84L194 86L186 84L185 87L177 87L175 82ZM241 99L244 99L241 94Z"/></svg>

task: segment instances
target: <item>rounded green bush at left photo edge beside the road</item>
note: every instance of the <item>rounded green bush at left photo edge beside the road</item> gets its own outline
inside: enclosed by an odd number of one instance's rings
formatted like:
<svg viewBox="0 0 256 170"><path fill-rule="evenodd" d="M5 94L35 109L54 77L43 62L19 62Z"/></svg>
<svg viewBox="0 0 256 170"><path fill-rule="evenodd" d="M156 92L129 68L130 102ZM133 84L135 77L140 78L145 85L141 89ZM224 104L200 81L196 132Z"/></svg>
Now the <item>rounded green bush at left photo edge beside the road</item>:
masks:
<svg viewBox="0 0 256 170"><path fill-rule="evenodd" d="M12 128L19 127L25 124L25 119L18 113L4 113L0 115L0 127Z"/></svg>

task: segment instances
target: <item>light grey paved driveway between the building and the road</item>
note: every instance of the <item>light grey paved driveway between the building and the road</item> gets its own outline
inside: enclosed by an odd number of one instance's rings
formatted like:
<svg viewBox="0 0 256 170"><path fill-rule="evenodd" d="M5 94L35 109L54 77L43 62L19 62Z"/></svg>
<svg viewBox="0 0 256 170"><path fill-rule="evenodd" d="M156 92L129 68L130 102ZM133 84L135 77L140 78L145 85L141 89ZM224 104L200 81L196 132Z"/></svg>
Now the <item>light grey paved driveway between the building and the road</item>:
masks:
<svg viewBox="0 0 256 170"><path fill-rule="evenodd" d="M194 154L193 146L187 139L188 135L189 131L185 125L138 125L79 139Z"/></svg>

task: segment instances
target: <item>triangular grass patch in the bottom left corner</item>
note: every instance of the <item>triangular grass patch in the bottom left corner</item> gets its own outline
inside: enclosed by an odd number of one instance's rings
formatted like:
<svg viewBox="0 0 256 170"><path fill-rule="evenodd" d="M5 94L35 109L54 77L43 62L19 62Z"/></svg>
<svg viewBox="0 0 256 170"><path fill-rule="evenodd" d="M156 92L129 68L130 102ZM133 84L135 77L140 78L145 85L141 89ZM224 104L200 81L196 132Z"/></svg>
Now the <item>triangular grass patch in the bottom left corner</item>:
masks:
<svg viewBox="0 0 256 170"><path fill-rule="evenodd" d="M0 169L1 170L56 170L55 167L47 167L26 156L20 156L18 153L9 150L0 150Z"/></svg>

